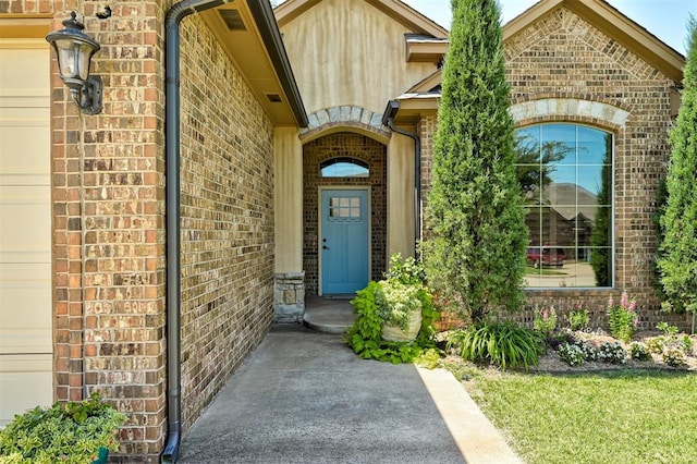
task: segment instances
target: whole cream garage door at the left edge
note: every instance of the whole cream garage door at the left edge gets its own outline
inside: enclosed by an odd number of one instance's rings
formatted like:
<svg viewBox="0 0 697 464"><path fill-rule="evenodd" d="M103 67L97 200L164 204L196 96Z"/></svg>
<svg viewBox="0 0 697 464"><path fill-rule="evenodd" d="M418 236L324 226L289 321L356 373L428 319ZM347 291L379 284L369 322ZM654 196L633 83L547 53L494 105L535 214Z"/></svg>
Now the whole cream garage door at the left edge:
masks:
<svg viewBox="0 0 697 464"><path fill-rule="evenodd" d="M0 39L0 427L53 400L50 54Z"/></svg>

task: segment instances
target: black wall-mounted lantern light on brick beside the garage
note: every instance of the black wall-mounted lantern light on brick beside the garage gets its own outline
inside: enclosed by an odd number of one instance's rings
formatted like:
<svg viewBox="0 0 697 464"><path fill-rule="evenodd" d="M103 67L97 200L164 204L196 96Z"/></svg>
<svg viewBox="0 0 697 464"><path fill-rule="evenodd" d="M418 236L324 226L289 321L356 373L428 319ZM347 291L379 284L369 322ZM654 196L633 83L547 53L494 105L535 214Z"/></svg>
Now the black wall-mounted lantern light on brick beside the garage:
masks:
<svg viewBox="0 0 697 464"><path fill-rule="evenodd" d="M87 114L101 112L101 78L89 75L91 56L99 50L99 44L85 33L84 24L75 19L63 21L64 28L46 36L53 46L58 58L58 72L70 88L75 103Z"/></svg>

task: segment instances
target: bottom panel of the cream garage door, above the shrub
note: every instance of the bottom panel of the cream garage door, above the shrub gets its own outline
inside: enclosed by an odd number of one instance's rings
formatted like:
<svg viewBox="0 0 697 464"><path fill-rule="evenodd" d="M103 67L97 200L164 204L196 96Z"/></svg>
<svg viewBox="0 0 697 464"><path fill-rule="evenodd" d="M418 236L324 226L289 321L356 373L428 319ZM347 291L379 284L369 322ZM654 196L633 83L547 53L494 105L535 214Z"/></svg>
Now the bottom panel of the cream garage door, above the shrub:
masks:
<svg viewBox="0 0 697 464"><path fill-rule="evenodd" d="M0 427L13 414L53 402L52 365L50 354L0 355Z"/></svg>

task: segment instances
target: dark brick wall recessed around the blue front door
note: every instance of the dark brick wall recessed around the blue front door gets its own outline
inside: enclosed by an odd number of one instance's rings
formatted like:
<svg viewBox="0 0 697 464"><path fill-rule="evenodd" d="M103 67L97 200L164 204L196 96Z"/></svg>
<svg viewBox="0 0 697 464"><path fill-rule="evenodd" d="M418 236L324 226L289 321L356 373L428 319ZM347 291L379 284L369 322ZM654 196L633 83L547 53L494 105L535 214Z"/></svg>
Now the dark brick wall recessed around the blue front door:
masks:
<svg viewBox="0 0 697 464"><path fill-rule="evenodd" d="M303 268L305 270L305 292L317 295L319 292L318 257L318 186L322 185L369 185L370 186L370 240L371 267L370 279L379 280L386 270L387 256L387 147L365 135L338 133L309 142L303 147L303 175L305 194L303 196ZM319 176L319 163L334 157L352 157L367 162L369 178L322 179Z"/></svg>

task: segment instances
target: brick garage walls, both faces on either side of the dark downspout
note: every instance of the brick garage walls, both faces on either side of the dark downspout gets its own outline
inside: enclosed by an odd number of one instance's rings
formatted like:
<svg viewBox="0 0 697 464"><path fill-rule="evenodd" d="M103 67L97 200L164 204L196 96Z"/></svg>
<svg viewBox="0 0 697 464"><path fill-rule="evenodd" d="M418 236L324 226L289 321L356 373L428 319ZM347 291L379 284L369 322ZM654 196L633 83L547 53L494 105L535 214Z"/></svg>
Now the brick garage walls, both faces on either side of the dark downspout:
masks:
<svg viewBox="0 0 697 464"><path fill-rule="evenodd" d="M112 3L100 21L102 3L0 1L0 11L52 11L60 29L77 10L101 44L93 61L101 114L81 114L52 78L56 392L101 392L129 415L115 459L157 461L167 434L163 33L173 1ZM182 53L187 428L273 317L273 147L270 120L195 16L182 25Z"/></svg>

